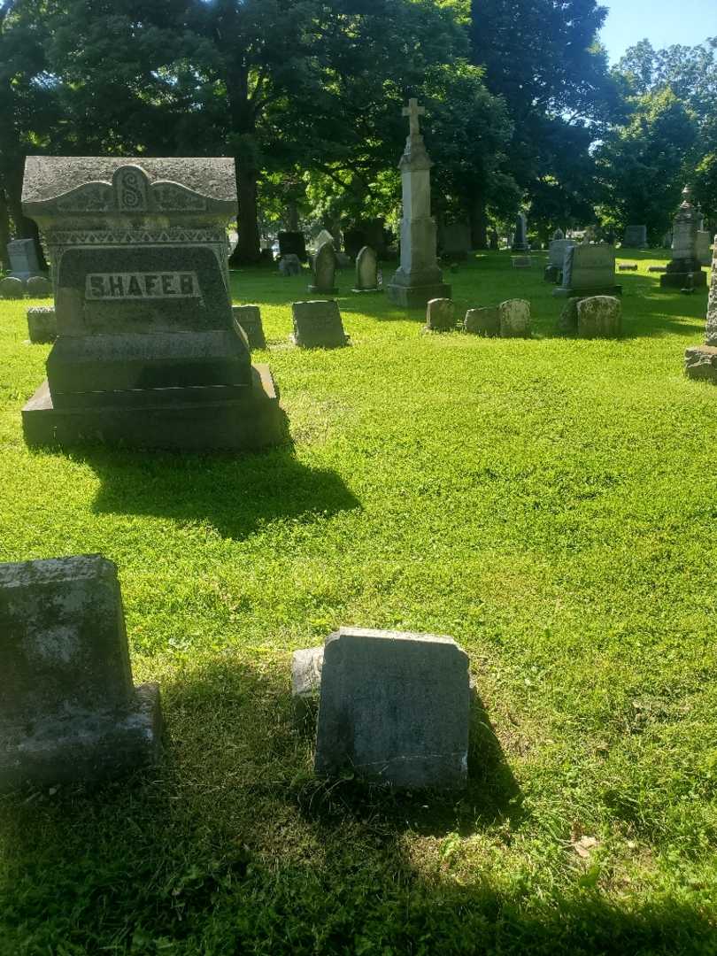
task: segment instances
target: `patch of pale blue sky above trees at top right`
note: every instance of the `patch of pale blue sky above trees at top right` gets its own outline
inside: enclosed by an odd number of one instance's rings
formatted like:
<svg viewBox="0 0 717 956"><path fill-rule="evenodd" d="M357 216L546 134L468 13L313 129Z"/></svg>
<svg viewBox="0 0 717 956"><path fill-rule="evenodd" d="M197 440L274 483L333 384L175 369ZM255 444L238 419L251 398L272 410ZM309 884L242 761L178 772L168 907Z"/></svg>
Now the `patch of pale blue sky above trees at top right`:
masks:
<svg viewBox="0 0 717 956"><path fill-rule="evenodd" d="M682 43L696 46L717 36L717 0L600 0L610 12L602 42L615 63L645 37L656 50Z"/></svg>

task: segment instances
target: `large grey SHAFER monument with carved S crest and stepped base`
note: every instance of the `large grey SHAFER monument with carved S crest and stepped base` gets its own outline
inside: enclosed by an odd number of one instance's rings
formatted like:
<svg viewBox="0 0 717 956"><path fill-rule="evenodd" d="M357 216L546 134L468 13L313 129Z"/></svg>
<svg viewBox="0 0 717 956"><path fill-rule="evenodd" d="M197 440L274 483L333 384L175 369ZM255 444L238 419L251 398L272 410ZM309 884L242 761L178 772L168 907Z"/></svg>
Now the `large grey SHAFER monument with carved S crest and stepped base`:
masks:
<svg viewBox="0 0 717 956"><path fill-rule="evenodd" d="M54 262L57 339L31 445L241 449L283 441L269 367L231 315L230 159L30 157L23 208Z"/></svg>

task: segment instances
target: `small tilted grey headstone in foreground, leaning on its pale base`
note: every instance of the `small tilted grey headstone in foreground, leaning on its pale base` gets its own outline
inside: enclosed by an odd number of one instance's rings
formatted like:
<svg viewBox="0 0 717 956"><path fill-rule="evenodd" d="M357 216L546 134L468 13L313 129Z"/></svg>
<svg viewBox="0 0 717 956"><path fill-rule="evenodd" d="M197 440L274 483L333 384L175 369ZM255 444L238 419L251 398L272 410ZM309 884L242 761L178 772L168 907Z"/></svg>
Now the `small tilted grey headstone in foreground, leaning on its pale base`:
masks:
<svg viewBox="0 0 717 956"><path fill-rule="evenodd" d="M451 638L342 627L324 647L294 655L294 698L317 683L317 775L466 786L468 658Z"/></svg>

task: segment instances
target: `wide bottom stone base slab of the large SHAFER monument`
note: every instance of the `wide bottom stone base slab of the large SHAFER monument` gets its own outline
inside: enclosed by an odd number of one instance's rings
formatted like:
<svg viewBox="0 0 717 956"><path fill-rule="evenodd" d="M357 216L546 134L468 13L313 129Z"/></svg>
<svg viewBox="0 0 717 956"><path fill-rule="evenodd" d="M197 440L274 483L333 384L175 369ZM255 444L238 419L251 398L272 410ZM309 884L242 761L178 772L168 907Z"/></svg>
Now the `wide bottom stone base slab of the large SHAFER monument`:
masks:
<svg viewBox="0 0 717 956"><path fill-rule="evenodd" d="M54 408L47 381L22 410L28 445L123 445L183 451L253 450L284 441L284 414L268 365L253 365L246 395L224 402ZM174 390L172 390L174 391ZM192 389L178 389L185 397Z"/></svg>

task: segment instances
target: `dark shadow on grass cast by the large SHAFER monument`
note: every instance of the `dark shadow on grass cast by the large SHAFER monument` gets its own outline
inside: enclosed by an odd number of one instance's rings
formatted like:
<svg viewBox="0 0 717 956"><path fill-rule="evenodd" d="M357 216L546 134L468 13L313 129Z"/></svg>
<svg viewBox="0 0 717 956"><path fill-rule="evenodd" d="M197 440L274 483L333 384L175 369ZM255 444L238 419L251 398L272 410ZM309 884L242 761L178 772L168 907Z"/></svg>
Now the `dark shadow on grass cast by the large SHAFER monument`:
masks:
<svg viewBox="0 0 717 956"><path fill-rule="evenodd" d="M101 482L93 511L206 522L241 539L276 520L311 522L360 508L334 471L301 465L291 445L241 456L93 448L74 457Z"/></svg>

